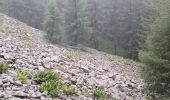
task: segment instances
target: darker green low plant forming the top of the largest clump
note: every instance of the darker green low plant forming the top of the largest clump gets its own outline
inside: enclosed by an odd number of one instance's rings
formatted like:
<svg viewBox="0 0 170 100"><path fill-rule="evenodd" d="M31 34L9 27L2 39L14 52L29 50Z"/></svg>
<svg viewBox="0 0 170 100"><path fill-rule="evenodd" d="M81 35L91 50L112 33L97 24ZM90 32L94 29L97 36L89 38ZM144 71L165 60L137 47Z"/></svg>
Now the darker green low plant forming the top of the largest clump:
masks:
<svg viewBox="0 0 170 100"><path fill-rule="evenodd" d="M43 82L48 82L48 81L51 81L51 80L58 81L59 77L58 77L57 74L55 74L52 71L40 71L35 75L34 80L38 84L42 84Z"/></svg>

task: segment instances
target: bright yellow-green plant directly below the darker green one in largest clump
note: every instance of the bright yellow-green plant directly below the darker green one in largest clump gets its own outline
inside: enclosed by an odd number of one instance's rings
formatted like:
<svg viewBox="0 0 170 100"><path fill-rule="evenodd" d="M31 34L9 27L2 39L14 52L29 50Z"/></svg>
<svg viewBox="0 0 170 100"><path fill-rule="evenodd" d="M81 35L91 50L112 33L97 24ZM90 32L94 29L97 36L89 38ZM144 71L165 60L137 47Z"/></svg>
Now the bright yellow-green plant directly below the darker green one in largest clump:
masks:
<svg viewBox="0 0 170 100"><path fill-rule="evenodd" d="M54 98L59 97L61 94L62 84L59 81L51 80L41 84L40 90L43 92L47 92L47 94Z"/></svg>

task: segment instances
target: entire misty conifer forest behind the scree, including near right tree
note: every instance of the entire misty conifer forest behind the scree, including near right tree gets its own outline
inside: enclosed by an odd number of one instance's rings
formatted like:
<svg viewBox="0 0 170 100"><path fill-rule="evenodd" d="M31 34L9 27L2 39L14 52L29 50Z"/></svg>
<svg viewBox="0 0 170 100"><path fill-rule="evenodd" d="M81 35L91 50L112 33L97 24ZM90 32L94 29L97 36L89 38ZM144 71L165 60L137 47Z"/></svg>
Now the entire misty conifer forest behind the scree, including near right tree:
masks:
<svg viewBox="0 0 170 100"><path fill-rule="evenodd" d="M169 0L1 0L0 5L1 12L44 30L52 43L140 60L149 90L169 90Z"/></svg>

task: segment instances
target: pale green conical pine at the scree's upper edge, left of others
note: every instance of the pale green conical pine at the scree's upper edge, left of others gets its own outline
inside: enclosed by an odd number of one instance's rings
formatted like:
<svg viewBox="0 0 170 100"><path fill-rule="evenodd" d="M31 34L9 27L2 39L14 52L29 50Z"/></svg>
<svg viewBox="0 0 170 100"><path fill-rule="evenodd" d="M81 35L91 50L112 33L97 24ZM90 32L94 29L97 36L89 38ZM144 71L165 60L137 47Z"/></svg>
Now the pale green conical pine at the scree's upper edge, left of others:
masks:
<svg viewBox="0 0 170 100"><path fill-rule="evenodd" d="M47 39L52 43L61 42L63 33L62 18L54 1L49 4L44 22L44 31L47 33Z"/></svg>

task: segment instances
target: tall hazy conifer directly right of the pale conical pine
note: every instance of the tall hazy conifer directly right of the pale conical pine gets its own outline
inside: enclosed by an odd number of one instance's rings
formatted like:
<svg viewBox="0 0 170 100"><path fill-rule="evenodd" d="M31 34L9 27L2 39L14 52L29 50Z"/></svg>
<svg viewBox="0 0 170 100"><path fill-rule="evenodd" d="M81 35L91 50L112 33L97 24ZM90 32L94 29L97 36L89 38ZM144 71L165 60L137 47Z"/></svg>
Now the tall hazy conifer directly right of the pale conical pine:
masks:
<svg viewBox="0 0 170 100"><path fill-rule="evenodd" d="M81 0L68 0L65 12L65 21L67 24L67 40L71 45L83 44L86 41L86 18L83 14L83 5Z"/></svg>

